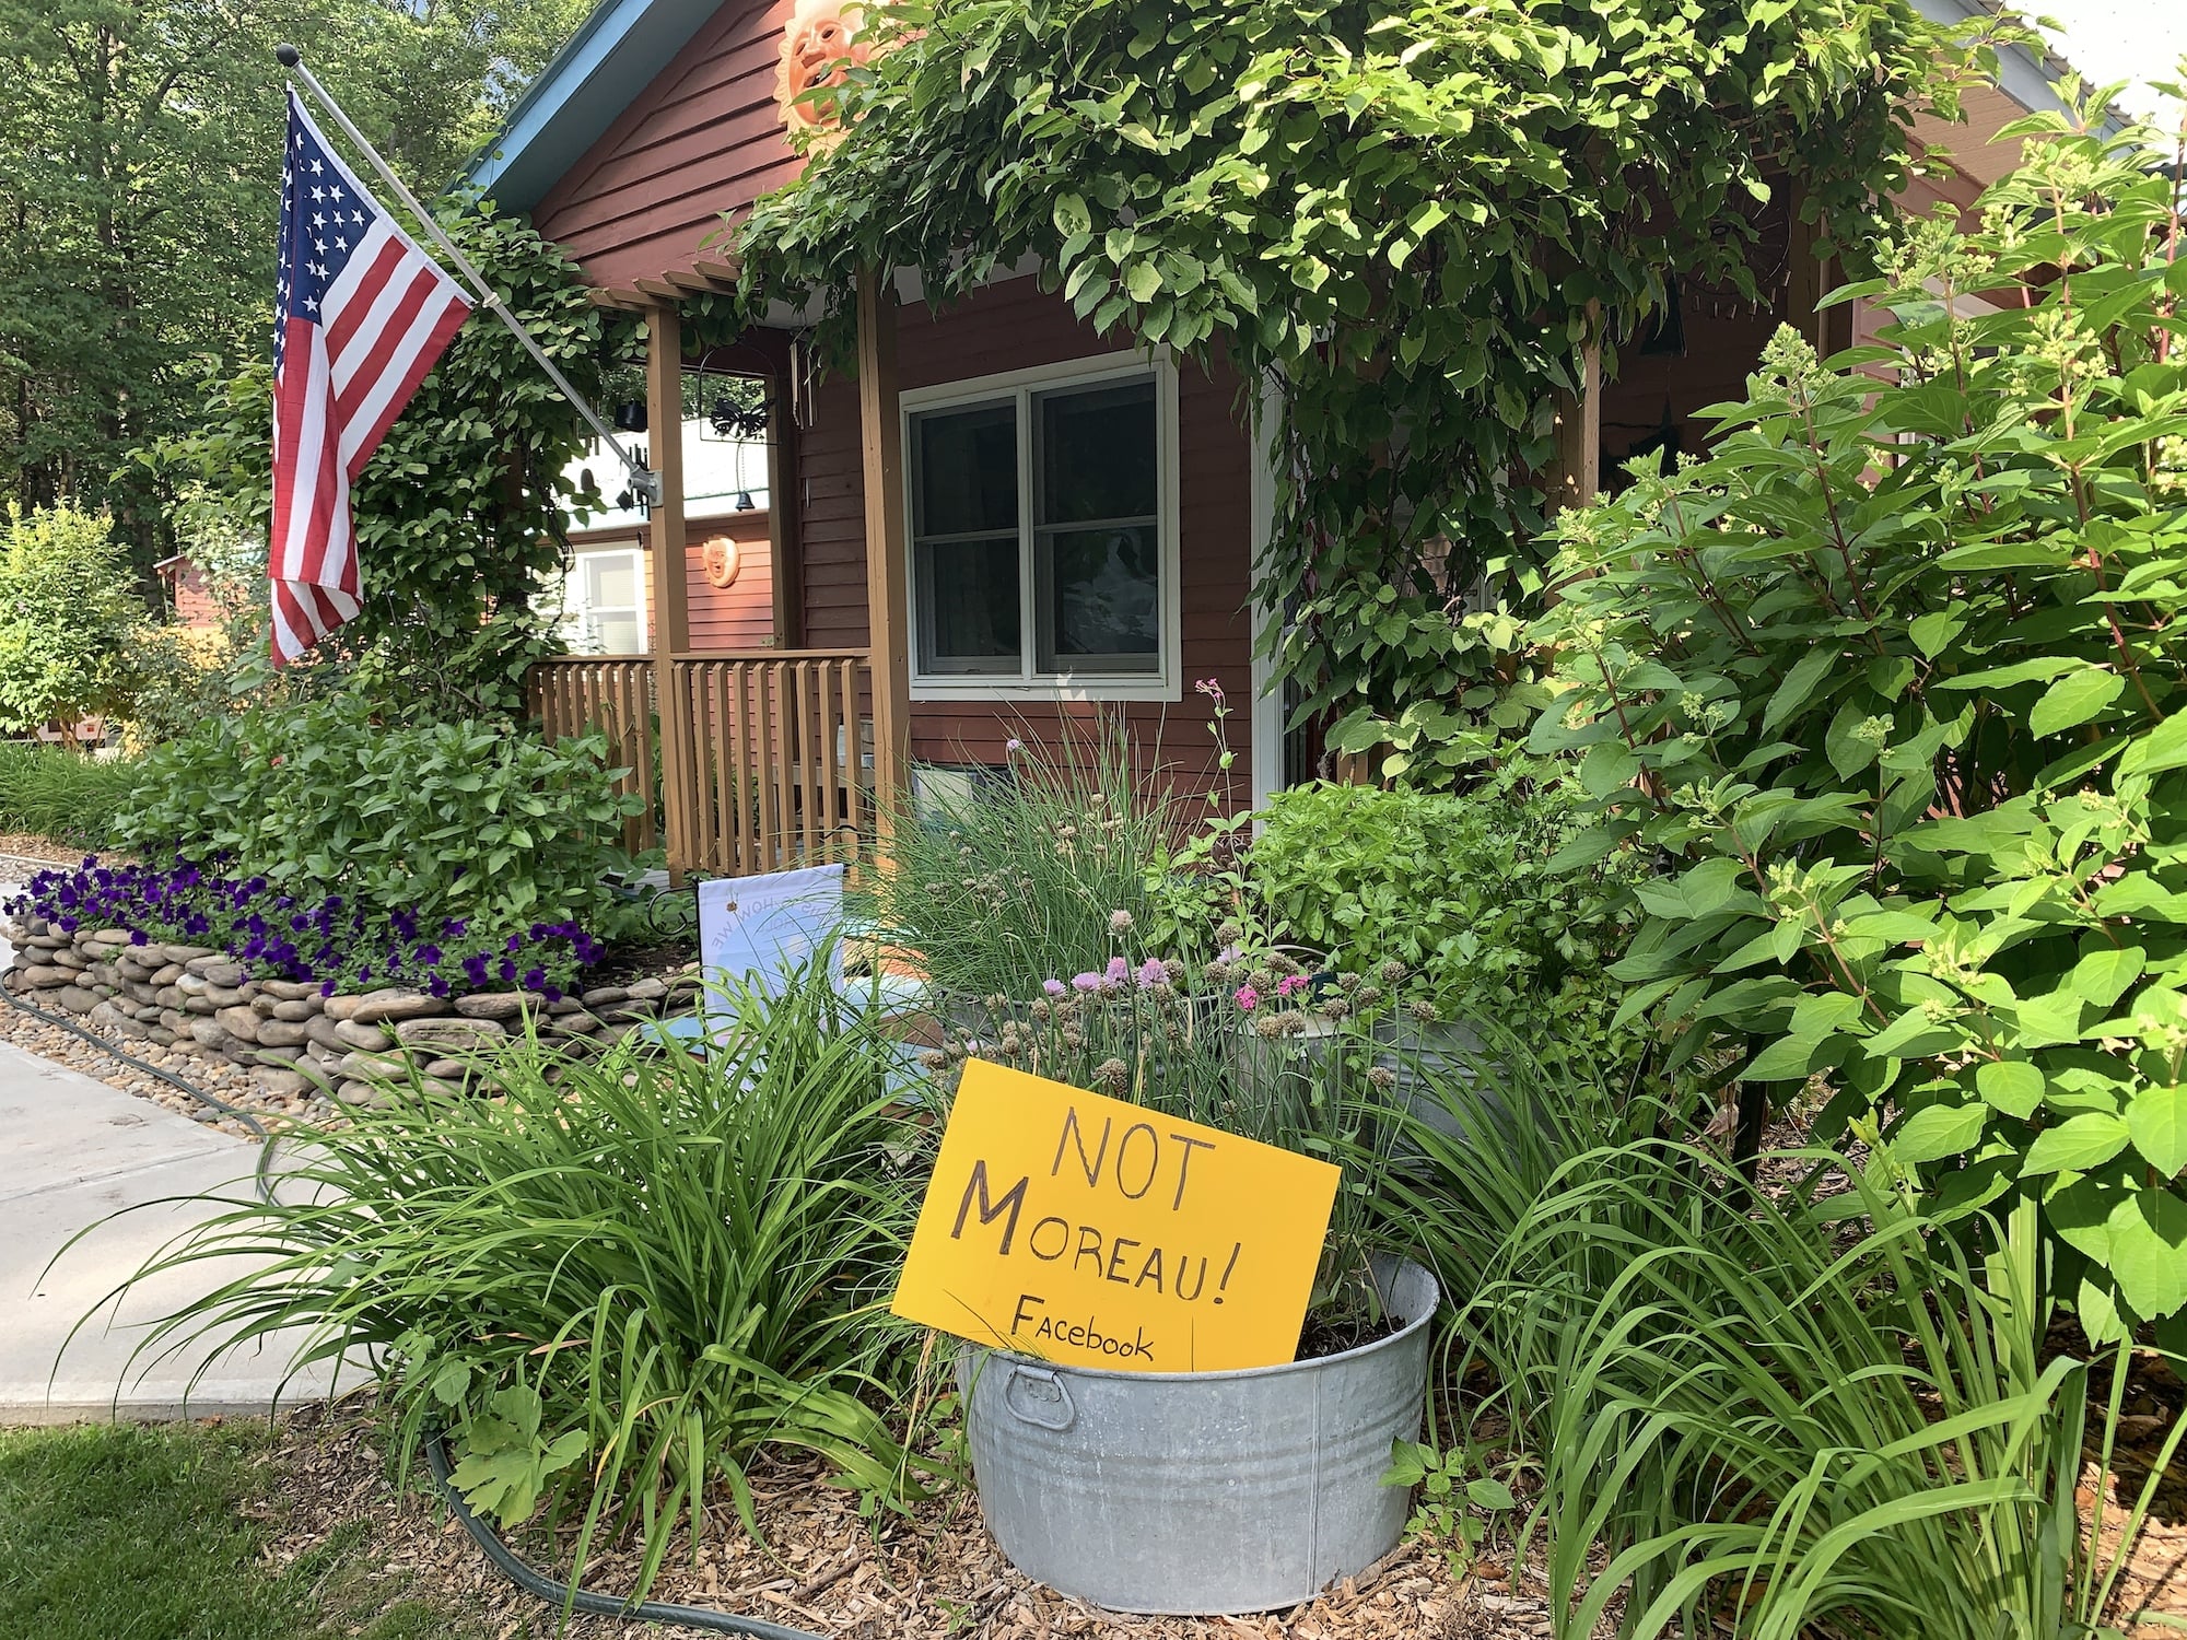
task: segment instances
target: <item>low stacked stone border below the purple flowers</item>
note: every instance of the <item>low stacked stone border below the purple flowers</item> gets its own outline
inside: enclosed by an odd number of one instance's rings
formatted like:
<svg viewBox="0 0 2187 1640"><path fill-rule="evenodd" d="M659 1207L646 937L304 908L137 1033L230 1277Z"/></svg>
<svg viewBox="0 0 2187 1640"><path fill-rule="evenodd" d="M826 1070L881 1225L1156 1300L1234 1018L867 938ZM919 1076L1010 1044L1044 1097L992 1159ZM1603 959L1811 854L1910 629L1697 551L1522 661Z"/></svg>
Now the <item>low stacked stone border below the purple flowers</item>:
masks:
<svg viewBox="0 0 2187 1640"><path fill-rule="evenodd" d="M604 1052L698 999L698 962L667 977L595 986L560 1001L529 991L433 997L405 986L319 995L297 980L252 977L243 962L203 945L133 945L127 929L61 934L39 916L4 925L15 947L0 986L77 1017L122 1043L160 1043L249 1069L280 1098L378 1100L376 1082L413 1071L444 1093L486 1089L481 1054L521 1036L569 1054Z"/></svg>

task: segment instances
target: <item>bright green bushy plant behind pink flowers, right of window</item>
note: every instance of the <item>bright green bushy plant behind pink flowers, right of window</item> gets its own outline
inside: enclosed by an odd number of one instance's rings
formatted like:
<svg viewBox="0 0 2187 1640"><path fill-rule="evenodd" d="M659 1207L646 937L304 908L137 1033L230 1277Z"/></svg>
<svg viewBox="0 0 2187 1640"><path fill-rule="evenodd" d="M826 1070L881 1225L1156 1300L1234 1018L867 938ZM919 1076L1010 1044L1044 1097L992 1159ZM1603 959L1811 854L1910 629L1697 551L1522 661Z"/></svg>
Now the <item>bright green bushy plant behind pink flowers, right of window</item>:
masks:
<svg viewBox="0 0 2187 1640"><path fill-rule="evenodd" d="M1465 794L1301 785L1271 800L1247 881L1268 932L1338 973L1397 960L1406 993L1443 1017L1537 1019L1546 1052L1599 1054L1623 993L1605 967L1627 934L1629 872L1551 868L1588 818L1577 778L1531 757ZM1638 1034L1616 1052L1638 1052Z"/></svg>

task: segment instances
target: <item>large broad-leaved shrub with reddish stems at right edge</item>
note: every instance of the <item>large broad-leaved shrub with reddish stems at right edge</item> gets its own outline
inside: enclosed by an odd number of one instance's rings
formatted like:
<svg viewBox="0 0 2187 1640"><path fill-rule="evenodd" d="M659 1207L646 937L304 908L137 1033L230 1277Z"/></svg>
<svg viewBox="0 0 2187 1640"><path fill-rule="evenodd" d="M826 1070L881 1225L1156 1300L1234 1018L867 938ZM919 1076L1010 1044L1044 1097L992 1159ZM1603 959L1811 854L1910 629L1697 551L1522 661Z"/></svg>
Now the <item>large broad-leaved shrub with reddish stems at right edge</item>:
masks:
<svg viewBox="0 0 2187 1640"><path fill-rule="evenodd" d="M1940 1214L2038 1203L2110 1338L2187 1314L2187 262L2150 133L2016 129L1857 374L1780 335L1710 459L1566 523L1535 746L1575 857L1666 866L1627 1006L1826 1071Z"/></svg>

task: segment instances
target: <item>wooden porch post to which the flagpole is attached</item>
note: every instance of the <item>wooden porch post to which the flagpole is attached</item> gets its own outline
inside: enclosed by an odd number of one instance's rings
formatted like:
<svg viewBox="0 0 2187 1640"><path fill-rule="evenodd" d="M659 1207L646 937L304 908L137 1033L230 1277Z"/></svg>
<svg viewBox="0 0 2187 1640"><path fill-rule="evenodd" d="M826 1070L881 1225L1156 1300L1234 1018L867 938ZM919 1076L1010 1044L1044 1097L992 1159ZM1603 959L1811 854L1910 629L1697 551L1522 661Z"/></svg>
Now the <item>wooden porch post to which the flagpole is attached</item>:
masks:
<svg viewBox="0 0 2187 1640"><path fill-rule="evenodd" d="M682 315L674 302L645 308L645 429L660 505L645 525L652 588L654 704L660 713L660 807L667 818L669 881L682 883L698 862L691 785L691 724L669 656L691 647L691 586L685 571L682 518Z"/></svg>

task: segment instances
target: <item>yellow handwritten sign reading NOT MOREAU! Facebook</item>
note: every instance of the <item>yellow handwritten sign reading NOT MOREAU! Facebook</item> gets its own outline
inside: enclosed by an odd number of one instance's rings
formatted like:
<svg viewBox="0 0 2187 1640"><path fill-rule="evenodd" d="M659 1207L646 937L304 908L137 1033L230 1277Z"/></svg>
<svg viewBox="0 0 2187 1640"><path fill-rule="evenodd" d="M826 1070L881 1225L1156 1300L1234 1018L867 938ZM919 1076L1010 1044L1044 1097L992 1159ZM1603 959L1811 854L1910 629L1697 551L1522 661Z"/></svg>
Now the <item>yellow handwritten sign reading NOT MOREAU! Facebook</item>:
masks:
<svg viewBox="0 0 2187 1640"><path fill-rule="evenodd" d="M1080 1367L1277 1367L1336 1181L1325 1161L975 1058L890 1310Z"/></svg>

